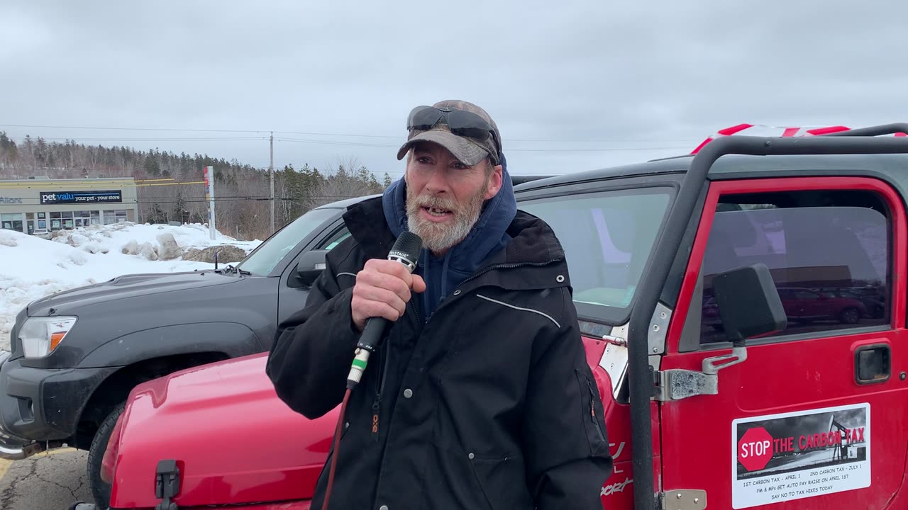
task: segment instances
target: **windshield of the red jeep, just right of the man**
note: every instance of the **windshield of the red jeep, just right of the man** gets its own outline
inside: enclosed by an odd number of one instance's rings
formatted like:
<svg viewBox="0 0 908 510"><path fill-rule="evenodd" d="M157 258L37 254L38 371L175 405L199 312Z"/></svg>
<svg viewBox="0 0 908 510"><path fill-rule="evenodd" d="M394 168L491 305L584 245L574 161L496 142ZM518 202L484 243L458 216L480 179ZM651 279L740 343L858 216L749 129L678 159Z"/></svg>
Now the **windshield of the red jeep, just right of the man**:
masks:
<svg viewBox="0 0 908 510"><path fill-rule="evenodd" d="M670 188L637 188L520 201L546 221L568 259L577 312L620 320L666 217Z"/></svg>

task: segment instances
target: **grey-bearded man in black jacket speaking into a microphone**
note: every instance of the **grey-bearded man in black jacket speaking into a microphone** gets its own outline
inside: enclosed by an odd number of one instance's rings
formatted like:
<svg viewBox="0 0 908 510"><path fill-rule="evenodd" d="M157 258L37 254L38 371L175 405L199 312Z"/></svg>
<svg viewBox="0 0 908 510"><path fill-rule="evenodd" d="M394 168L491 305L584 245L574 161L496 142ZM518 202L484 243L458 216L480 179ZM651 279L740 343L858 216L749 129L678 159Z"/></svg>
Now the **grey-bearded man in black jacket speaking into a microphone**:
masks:
<svg viewBox="0 0 908 510"><path fill-rule="evenodd" d="M392 321L347 404L331 509L601 509L612 458L558 238L518 211L485 110L419 106L407 129L403 178L344 214L350 237L268 359L278 396L321 417L366 320ZM405 230L413 274L387 260Z"/></svg>

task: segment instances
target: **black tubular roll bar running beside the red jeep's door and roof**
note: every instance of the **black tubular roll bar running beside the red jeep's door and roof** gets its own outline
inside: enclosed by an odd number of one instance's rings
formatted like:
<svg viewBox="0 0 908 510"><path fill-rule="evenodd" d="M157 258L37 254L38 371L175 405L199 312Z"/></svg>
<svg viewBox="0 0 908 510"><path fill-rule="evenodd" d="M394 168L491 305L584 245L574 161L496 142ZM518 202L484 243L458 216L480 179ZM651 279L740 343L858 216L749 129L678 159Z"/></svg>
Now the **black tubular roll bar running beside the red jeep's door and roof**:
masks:
<svg viewBox="0 0 908 510"><path fill-rule="evenodd" d="M895 127L893 127L895 126ZM634 508L658 507L653 474L653 437L650 398L655 382L649 367L646 341L650 320L662 293L672 263L681 246L688 221L706 184L706 174L720 157L727 154L754 156L804 154L908 153L908 137L877 138L873 134L903 132L908 124L888 124L843 132L840 136L809 137L724 136L707 143L696 153L681 183L665 228L656 243L656 253L643 271L639 302L631 311L627 331L627 362L631 421L631 455L634 466ZM895 130L895 131L891 131ZM885 131L885 132L884 132ZM861 132L868 134L861 134ZM851 134L846 134L851 133Z"/></svg>

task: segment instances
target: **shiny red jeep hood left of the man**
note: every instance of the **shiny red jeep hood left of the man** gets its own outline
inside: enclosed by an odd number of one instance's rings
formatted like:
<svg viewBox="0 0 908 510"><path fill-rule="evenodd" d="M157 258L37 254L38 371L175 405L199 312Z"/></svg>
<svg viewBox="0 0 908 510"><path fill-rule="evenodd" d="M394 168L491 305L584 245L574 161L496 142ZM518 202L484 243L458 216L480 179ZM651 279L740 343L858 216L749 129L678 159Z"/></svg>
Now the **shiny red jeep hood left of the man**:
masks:
<svg viewBox="0 0 908 510"><path fill-rule="evenodd" d="M164 459L180 466L181 507L311 498L340 408L315 420L293 412L265 374L267 359L229 359L133 388L121 417L112 506L159 503L154 473Z"/></svg>

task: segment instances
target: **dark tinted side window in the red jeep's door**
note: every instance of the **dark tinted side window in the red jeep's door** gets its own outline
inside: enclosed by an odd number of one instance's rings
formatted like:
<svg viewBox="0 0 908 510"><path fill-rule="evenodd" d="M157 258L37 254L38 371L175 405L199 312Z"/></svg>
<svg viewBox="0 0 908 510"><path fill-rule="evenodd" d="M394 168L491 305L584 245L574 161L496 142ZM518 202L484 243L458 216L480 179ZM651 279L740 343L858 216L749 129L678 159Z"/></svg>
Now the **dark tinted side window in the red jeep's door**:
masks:
<svg viewBox="0 0 908 510"><path fill-rule="evenodd" d="M703 260L700 342L725 341L713 276L756 262L771 271L788 317L778 335L886 326L891 230L885 202L870 191L723 197Z"/></svg>

